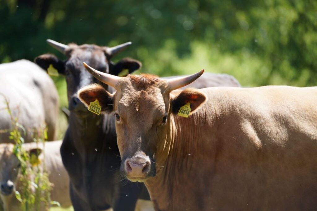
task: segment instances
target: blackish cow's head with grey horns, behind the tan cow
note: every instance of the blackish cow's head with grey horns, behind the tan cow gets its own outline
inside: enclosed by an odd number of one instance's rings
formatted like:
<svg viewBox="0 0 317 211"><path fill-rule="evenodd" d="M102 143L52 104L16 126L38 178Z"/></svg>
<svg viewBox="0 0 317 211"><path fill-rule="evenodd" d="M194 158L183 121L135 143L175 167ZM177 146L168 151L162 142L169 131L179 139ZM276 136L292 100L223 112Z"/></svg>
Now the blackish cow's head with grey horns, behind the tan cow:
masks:
<svg viewBox="0 0 317 211"><path fill-rule="evenodd" d="M83 67L82 63L99 69L102 72L117 76L122 70L128 69L129 73L138 70L141 63L134 59L122 59L117 63L113 63L110 59L126 47L131 42L121 44L116 47L100 47L97 45L64 45L54 40L47 42L67 56L65 61L61 61L55 55L43 54L35 58L34 62L47 70L52 65L59 74L65 76L67 83L68 108L77 115L87 115L87 108L81 103L77 97L77 91L88 84L97 83L94 77ZM107 87L105 87L107 89Z"/></svg>

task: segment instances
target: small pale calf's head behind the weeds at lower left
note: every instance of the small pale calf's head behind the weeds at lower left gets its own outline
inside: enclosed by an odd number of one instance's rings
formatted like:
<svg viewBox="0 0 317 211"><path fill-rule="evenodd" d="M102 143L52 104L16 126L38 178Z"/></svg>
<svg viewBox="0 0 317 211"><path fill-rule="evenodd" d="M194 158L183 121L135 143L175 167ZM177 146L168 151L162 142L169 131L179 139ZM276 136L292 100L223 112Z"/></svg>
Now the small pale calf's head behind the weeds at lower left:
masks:
<svg viewBox="0 0 317 211"><path fill-rule="evenodd" d="M15 192L15 184L21 168L21 162L13 153L13 147L14 145L7 144L0 159L0 192L4 196ZM27 152L31 158L35 156L38 159L38 155L42 151L38 148L32 148L28 149Z"/></svg>

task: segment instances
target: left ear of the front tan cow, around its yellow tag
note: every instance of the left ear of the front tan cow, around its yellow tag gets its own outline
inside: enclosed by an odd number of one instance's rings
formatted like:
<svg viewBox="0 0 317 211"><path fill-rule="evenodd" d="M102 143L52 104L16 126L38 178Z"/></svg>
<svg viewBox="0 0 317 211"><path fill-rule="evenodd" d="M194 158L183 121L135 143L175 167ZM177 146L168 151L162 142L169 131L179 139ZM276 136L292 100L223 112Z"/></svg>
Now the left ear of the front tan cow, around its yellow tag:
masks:
<svg viewBox="0 0 317 211"><path fill-rule="evenodd" d="M91 102L99 101L101 111L111 112L113 110L113 95L110 94L100 84L91 84L78 90L78 98L88 108Z"/></svg>

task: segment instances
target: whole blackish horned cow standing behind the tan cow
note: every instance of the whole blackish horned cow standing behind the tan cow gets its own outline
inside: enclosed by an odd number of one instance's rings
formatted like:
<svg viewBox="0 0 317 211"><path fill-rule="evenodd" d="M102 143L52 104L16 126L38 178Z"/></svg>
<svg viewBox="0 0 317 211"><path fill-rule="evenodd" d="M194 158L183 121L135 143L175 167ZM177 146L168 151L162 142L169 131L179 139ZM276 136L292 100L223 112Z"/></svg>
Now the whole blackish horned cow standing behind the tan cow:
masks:
<svg viewBox="0 0 317 211"><path fill-rule="evenodd" d="M67 57L61 61L55 55L44 54L38 56L35 62L45 70L53 65L66 78L70 115L61 145L61 157L70 177L74 209L92 211L112 207L114 210L134 210L138 197L149 199L149 196L143 184L120 181L118 169L121 159L114 116L91 113L77 97L81 87L98 83L82 66L84 61L113 75L118 75L123 69L128 69L130 73L139 69L141 63L134 59L121 59L117 63L110 60L131 42L116 47L100 47L47 41ZM107 85L103 87L112 91ZM140 195L142 191L145 195Z"/></svg>

